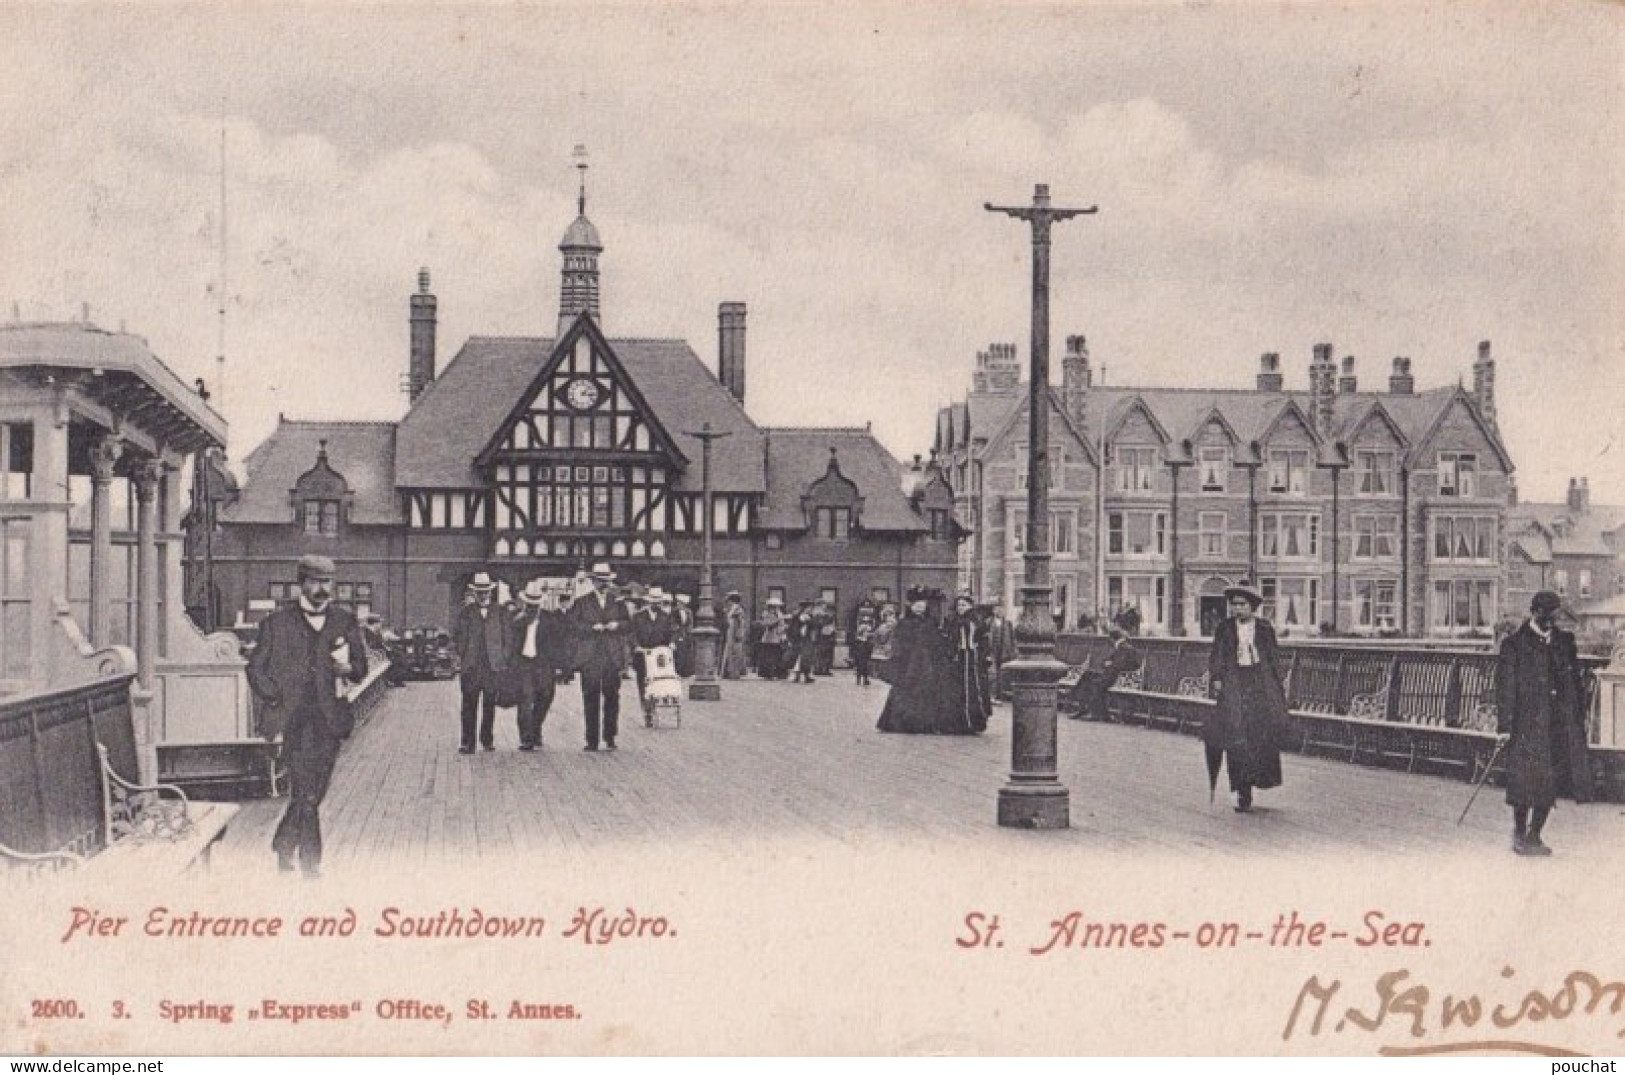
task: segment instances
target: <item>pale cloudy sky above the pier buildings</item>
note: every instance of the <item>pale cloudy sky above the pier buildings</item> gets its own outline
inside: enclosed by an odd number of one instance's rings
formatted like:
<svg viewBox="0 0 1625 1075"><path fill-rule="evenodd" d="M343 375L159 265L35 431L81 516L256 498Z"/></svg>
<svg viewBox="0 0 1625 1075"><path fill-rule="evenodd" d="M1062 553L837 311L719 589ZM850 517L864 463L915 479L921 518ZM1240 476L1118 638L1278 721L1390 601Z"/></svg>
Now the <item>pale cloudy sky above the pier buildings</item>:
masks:
<svg viewBox="0 0 1625 1075"><path fill-rule="evenodd" d="M231 450L393 419L419 265L442 365L551 335L592 154L609 333L715 360L749 304L765 424L930 443L977 349L1027 349L1029 237L983 201L1098 205L1055 248L1056 343L1110 383L1289 386L1311 348L1419 386L1493 341L1526 499L1625 503L1625 11L1474 5L226 5L0 8L0 317L124 323ZM1058 365L1058 364L1056 364Z"/></svg>

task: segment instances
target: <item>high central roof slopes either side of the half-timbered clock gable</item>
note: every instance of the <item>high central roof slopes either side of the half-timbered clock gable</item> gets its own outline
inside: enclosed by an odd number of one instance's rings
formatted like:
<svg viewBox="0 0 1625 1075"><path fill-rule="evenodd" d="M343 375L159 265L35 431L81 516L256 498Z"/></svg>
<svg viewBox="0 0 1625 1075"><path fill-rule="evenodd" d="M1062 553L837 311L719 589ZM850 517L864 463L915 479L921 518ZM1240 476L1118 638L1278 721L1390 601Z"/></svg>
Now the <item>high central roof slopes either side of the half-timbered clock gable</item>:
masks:
<svg viewBox="0 0 1625 1075"><path fill-rule="evenodd" d="M718 492L764 492L762 430L682 339L609 339L614 357L674 437L710 422L730 434L712 453ZM471 336L400 422L395 481L403 489L476 489L473 460L552 356L538 336ZM697 447L687 450L697 458ZM312 456L314 458L314 456ZM700 468L673 487L697 490Z"/></svg>

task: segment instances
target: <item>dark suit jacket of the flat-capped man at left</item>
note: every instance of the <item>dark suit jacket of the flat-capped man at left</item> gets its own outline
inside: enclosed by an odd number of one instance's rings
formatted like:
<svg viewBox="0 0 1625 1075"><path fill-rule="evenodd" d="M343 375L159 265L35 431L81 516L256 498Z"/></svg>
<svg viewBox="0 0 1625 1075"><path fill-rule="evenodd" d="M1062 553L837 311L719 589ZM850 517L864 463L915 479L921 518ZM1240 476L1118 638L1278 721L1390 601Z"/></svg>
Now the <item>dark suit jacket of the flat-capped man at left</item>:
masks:
<svg viewBox="0 0 1625 1075"><path fill-rule="evenodd" d="M349 669L333 667L333 646L349 643ZM356 718L346 698L338 697L336 679L353 684L367 677L367 646L361 625L344 609L328 606L322 630L312 630L291 601L260 622L258 640L249 654L249 689L257 705L255 723L266 739L297 737L310 723L335 740L354 731Z"/></svg>

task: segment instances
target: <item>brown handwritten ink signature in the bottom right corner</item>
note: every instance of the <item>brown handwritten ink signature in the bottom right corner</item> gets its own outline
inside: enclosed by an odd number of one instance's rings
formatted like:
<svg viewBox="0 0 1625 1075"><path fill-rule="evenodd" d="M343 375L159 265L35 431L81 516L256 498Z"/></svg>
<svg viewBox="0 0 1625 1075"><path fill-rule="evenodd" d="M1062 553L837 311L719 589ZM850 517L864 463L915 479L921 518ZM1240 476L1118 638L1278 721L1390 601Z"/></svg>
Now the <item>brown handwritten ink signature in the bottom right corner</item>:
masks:
<svg viewBox="0 0 1625 1075"><path fill-rule="evenodd" d="M1436 1056L1451 1052L1526 1052L1534 1056L1584 1056L1550 1044L1516 1039L1443 1041L1464 1031L1497 1030L1528 1031L1534 1025L1555 1025L1571 1018L1614 1017L1615 1038L1625 1039L1625 981L1604 981L1591 971L1570 971L1557 986L1511 984L1516 971L1502 968L1508 981L1505 999L1484 992L1443 994L1435 1004L1435 992L1410 979L1410 971L1398 969L1381 974L1372 986L1365 1007L1349 1005L1339 1013L1336 1002L1342 981L1323 982L1318 974L1298 989L1280 1031L1282 1041L1292 1038L1318 1038L1323 1033L1344 1031L1378 1033L1404 1030L1417 1041L1414 1046L1383 1046L1383 1056ZM1487 991L1485 991L1487 992ZM1493 1005L1493 1007L1492 1007ZM1331 1021L1336 1020L1336 1021Z"/></svg>

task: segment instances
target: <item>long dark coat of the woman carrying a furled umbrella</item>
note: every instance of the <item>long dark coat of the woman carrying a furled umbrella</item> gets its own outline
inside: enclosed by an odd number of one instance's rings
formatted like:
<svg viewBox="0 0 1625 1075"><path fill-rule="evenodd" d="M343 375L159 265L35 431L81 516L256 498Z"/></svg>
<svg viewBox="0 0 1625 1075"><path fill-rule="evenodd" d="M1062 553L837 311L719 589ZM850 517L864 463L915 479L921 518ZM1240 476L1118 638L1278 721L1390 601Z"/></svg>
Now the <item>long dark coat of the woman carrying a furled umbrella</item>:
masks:
<svg viewBox="0 0 1625 1075"><path fill-rule="evenodd" d="M1230 788L1280 786L1280 740L1290 729L1287 692L1280 674L1280 646L1269 620L1253 617L1258 664L1237 663L1235 619L1214 630L1207 651L1207 679L1219 684L1212 718L1202 727L1209 752L1224 752Z"/></svg>

